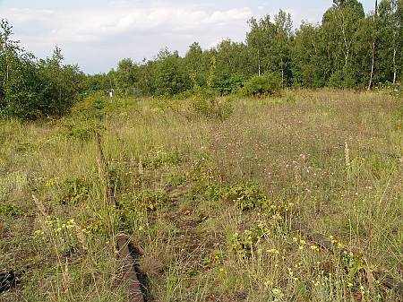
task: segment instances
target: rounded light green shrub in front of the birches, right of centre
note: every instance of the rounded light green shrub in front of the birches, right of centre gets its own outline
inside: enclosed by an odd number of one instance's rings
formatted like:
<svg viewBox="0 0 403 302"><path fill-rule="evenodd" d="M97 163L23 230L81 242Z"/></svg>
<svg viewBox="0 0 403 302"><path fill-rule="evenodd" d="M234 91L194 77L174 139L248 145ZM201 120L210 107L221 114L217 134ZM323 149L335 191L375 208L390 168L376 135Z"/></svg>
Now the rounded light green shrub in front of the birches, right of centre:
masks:
<svg viewBox="0 0 403 302"><path fill-rule="evenodd" d="M244 83L244 95L267 96L276 94L281 89L281 79L277 73L253 76Z"/></svg>

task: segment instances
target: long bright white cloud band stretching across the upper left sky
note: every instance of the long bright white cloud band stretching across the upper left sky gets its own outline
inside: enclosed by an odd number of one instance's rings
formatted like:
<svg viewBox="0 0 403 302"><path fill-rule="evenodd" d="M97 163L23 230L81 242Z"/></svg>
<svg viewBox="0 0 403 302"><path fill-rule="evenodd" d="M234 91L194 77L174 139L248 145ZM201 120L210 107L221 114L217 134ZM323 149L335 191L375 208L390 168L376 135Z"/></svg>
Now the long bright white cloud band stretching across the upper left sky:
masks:
<svg viewBox="0 0 403 302"><path fill-rule="evenodd" d="M107 39L109 36L130 32L161 33L189 30L209 30L232 22L245 22L252 16L250 8L208 13L182 7L155 7L151 9L98 9L86 11L50 11L9 9L5 16L18 29L39 27L52 35L40 32L32 39L49 42L87 42ZM228 29L230 30L230 29ZM23 35L23 30L22 30ZM87 40L88 39L88 40Z"/></svg>

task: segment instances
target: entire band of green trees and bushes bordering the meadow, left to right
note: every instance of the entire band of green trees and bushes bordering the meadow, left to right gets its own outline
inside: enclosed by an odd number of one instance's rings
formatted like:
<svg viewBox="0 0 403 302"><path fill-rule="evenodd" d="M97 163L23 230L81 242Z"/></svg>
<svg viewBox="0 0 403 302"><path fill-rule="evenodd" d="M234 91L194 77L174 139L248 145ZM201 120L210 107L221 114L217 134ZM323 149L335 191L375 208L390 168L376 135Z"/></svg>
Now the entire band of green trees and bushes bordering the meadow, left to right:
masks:
<svg viewBox="0 0 403 302"><path fill-rule="evenodd" d="M285 87L399 89L402 0L376 1L367 14L357 0L334 1L322 22L303 22L297 30L281 10L274 18L248 23L245 42L224 39L206 50L194 42L183 57L164 48L153 59L124 58L108 73L89 75L78 65L64 65L59 47L51 57L36 58L13 39L13 27L3 20L0 116L63 116L91 91L186 98L194 93L261 96Z"/></svg>

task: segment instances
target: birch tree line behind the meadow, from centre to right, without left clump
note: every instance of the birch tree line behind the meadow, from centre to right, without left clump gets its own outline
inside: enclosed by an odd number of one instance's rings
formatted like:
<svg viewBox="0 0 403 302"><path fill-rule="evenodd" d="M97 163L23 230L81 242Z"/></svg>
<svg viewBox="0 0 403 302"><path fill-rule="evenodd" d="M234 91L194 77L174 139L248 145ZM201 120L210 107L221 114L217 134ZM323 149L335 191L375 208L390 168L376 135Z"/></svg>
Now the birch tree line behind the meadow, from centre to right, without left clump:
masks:
<svg viewBox="0 0 403 302"><path fill-rule="evenodd" d="M297 30L284 11L249 26L245 42L226 39L207 50L195 42L184 57L163 49L141 63L125 58L90 76L90 89L173 95L210 85L227 94L264 73L278 74L282 86L372 88L398 82L403 70L402 0L376 1L368 14L357 0L335 0L322 22Z"/></svg>

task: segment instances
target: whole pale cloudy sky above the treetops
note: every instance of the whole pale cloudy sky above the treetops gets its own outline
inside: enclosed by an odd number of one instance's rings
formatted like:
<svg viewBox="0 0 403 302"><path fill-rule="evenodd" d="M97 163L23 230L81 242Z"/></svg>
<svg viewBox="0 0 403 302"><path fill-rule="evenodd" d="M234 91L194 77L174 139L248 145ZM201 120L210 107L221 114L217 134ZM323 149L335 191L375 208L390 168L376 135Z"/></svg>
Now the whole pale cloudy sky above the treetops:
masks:
<svg viewBox="0 0 403 302"><path fill-rule="evenodd" d="M373 0L361 1L366 12ZM222 39L244 41L247 21L283 9L297 28L321 22L331 0L0 0L0 19L35 56L61 47L65 63L85 73L104 73L130 57L151 59L167 47L184 55L194 41L202 48Z"/></svg>

